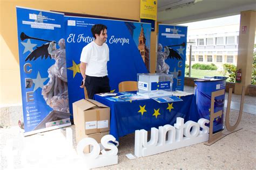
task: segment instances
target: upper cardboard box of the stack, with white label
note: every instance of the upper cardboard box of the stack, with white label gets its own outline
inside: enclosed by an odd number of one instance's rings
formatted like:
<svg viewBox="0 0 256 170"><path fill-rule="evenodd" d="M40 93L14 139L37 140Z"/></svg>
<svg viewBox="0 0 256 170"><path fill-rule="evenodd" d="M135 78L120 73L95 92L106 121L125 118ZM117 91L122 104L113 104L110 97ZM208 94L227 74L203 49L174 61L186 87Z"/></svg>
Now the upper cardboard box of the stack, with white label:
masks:
<svg viewBox="0 0 256 170"><path fill-rule="evenodd" d="M77 140L85 134L110 130L110 108L95 100L82 99L73 103L73 117Z"/></svg>

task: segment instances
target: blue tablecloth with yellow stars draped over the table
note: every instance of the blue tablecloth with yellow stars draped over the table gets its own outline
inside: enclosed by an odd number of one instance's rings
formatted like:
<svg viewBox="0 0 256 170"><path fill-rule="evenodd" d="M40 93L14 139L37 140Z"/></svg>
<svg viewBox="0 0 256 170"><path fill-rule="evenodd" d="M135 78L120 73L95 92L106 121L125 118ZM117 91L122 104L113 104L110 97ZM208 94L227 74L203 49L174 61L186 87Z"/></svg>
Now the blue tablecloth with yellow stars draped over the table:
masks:
<svg viewBox="0 0 256 170"><path fill-rule="evenodd" d="M119 94L121 95L121 94ZM154 100L112 102L106 97L95 95L95 100L110 107L110 134L119 137L135 130L151 130L152 127L173 125L177 117L197 122L199 119L194 95L181 96L181 102L158 103Z"/></svg>

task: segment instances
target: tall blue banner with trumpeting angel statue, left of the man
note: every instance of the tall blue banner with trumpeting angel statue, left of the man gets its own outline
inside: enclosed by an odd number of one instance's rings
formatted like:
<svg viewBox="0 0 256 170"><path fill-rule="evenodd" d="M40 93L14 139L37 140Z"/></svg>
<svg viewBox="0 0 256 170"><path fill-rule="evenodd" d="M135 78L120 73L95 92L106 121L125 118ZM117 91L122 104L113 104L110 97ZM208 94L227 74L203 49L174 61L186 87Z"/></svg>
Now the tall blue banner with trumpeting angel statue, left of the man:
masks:
<svg viewBox="0 0 256 170"><path fill-rule="evenodd" d="M64 15L16 7L24 135L71 125Z"/></svg>

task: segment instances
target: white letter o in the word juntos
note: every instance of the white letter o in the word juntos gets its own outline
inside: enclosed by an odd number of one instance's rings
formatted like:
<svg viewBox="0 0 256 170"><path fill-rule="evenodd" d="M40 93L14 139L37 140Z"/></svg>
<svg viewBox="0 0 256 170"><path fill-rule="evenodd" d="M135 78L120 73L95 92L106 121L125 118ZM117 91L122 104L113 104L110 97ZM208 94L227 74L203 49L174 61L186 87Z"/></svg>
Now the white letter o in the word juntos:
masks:
<svg viewBox="0 0 256 170"><path fill-rule="evenodd" d="M192 128L192 130L191 130ZM191 131L190 131L191 130ZM193 121L187 121L185 123L184 135L188 138L196 138L200 131L200 126L198 123Z"/></svg>

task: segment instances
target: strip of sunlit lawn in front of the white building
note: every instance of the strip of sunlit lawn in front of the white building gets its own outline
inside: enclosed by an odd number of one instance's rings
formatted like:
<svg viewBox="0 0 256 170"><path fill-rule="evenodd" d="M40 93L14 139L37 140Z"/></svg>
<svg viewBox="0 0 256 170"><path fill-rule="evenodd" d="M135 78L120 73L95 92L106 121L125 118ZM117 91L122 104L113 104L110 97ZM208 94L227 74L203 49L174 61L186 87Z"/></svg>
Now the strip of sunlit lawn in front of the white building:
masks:
<svg viewBox="0 0 256 170"><path fill-rule="evenodd" d="M188 73L188 68L185 69L185 73ZM185 74L186 77L188 75ZM203 70L203 69L191 69L191 77L203 78L204 76L225 76L217 70Z"/></svg>

